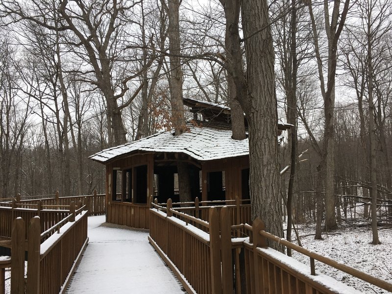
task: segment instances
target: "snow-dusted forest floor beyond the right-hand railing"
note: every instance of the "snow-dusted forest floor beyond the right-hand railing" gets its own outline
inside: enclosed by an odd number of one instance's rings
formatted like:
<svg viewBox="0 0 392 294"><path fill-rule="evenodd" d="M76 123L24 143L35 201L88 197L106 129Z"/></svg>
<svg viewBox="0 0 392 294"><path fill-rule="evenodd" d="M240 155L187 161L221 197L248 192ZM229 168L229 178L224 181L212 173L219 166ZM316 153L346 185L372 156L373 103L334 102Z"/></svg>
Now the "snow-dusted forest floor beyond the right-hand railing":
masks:
<svg viewBox="0 0 392 294"><path fill-rule="evenodd" d="M299 235L305 236L315 233L314 224L299 224ZM381 245L371 245L372 233L370 226L346 226L331 232L337 235L323 235L324 240L314 240L314 235L301 237L302 246L323 256L365 271L375 277L392 283L392 228L379 227L378 234ZM293 239L295 238L293 232ZM295 242L294 242L295 243ZM310 263L309 258L293 251L293 257L302 263ZM326 266L318 261L316 270L325 273L346 285L366 294L390 293L380 288L352 277L340 270Z"/></svg>

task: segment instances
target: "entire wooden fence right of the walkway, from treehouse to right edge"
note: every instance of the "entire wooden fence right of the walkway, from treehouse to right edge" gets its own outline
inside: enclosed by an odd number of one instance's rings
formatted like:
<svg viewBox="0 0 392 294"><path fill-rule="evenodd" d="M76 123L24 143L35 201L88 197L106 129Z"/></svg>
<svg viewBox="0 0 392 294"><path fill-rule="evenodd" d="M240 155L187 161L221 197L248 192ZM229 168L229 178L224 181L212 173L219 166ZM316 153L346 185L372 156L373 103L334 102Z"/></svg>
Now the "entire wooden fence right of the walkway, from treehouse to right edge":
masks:
<svg viewBox="0 0 392 294"><path fill-rule="evenodd" d="M149 242L176 274L188 293L212 294L338 294L360 293L324 274L318 260L372 285L392 291L392 284L342 265L264 231L260 219L233 224L230 209L209 208L208 222L172 208L152 204ZM236 237L241 229L249 235ZM278 242L310 258L311 266L268 247Z"/></svg>

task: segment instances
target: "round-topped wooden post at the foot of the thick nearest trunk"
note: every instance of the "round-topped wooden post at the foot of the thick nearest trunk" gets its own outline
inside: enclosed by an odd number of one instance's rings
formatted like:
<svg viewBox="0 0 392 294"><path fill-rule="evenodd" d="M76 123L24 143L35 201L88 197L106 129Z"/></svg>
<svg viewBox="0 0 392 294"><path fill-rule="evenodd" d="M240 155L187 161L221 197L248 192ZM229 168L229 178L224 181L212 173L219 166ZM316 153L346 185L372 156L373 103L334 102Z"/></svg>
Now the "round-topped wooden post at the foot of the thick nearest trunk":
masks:
<svg viewBox="0 0 392 294"><path fill-rule="evenodd" d="M259 258L257 254L257 247L267 247L266 239L260 235L260 231L265 229L264 222L257 218L253 221L252 231L253 231L253 266L254 266L254 285L255 285L255 293L269 293L268 284L262 285L263 277L262 272L259 271L264 265L261 264L259 266ZM268 269L266 269L268 270ZM267 288L265 288L267 286ZM264 288L264 289L262 289ZM267 292L265 292L267 290ZM263 292L264 291L264 292Z"/></svg>

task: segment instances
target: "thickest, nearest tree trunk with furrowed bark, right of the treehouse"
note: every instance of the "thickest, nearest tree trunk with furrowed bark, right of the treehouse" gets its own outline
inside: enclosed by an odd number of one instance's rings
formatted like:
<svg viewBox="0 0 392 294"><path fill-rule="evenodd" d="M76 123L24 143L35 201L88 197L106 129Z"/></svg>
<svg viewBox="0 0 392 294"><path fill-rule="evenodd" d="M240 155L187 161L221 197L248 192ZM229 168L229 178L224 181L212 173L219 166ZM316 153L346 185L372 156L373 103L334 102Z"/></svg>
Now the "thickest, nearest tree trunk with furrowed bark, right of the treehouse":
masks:
<svg viewBox="0 0 392 294"><path fill-rule="evenodd" d="M252 218L259 217L266 229L283 237L279 207L279 157L277 143L277 102L275 97L274 51L267 1L242 1L247 64L247 105L249 123L249 164ZM256 33L255 35L253 35ZM271 247L283 251L274 243Z"/></svg>

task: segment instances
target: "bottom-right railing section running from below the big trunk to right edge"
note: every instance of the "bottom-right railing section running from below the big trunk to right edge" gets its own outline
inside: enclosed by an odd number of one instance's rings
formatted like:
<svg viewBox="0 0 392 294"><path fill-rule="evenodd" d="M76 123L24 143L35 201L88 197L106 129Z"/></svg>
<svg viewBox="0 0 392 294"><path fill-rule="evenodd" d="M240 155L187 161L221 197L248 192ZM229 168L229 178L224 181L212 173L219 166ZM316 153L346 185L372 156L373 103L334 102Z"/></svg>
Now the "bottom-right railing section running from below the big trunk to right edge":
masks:
<svg viewBox="0 0 392 294"><path fill-rule="evenodd" d="M253 226L244 225L250 233L250 240L244 242L245 262L247 271L254 272L254 276L264 277L252 281L247 278L247 287L254 289L255 293L351 293L352 289L330 277L316 275L315 260L324 263L337 270L357 277L371 285L392 292L392 284L363 271L354 269L335 260L322 256L316 252L295 245L284 239L276 237L264 229L264 223L260 219L253 221ZM267 240L284 245L310 258L310 268L294 260L283 253L267 247ZM299 264L300 266L293 267ZM295 270L294 270L295 269ZM320 276L323 276L320 278ZM360 292L358 292L360 293Z"/></svg>

